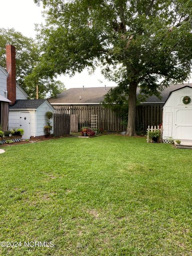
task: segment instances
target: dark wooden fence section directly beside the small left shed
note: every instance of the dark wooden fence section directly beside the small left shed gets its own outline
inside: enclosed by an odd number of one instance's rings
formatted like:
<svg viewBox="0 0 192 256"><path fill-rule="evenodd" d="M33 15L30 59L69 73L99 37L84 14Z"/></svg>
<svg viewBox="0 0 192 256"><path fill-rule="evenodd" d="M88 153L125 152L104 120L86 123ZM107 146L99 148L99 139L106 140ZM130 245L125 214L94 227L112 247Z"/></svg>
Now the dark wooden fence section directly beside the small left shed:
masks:
<svg viewBox="0 0 192 256"><path fill-rule="evenodd" d="M54 136L63 136L70 134L70 114L57 114L53 115L54 120Z"/></svg>

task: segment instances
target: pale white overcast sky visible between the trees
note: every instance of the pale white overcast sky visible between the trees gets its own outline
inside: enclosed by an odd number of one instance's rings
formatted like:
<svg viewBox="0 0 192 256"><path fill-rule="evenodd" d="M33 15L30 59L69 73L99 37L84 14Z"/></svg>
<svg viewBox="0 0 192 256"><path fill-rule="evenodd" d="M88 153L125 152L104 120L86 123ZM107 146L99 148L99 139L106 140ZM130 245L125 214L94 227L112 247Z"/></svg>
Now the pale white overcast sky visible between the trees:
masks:
<svg viewBox="0 0 192 256"><path fill-rule="evenodd" d="M24 36L35 38L35 24L44 23L42 16L42 6L36 6L33 0L9 0L1 1L0 27L15 28ZM94 74L89 75L87 70L80 74L69 76L58 76L67 89L85 87L116 86L114 82L109 82L102 76L100 68ZM100 82L102 81L102 83ZM190 79L192 82L192 79Z"/></svg>

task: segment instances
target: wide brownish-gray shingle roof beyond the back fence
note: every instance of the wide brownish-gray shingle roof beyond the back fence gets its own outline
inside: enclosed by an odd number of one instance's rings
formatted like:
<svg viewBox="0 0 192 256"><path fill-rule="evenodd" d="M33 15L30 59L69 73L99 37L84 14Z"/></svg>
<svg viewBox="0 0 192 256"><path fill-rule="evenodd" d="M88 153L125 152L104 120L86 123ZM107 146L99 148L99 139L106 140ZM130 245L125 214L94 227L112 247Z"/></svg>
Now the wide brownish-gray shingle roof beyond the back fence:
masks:
<svg viewBox="0 0 192 256"><path fill-rule="evenodd" d="M182 88L188 84L170 84L161 92L161 99L156 96L150 96L146 102L162 102L166 101L169 93L178 88ZM192 87L192 84L189 84ZM70 88L57 96L57 98L49 98L50 103L100 103L104 99L104 95L114 87L88 87L88 88ZM139 88L137 90L139 94ZM81 99L80 99L81 96Z"/></svg>

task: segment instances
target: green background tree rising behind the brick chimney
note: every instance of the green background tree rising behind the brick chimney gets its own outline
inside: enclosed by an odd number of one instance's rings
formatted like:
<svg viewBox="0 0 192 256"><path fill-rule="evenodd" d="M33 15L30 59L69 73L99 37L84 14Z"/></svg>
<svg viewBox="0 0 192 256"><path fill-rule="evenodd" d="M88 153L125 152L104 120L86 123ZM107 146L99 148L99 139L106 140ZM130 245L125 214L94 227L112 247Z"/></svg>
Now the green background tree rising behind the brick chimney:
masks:
<svg viewBox="0 0 192 256"><path fill-rule="evenodd" d="M55 81L54 76L39 75L37 66L40 62L41 52L35 40L22 35L13 28L0 28L0 65L5 69L6 44L16 47L16 80L30 98L36 98L37 84L40 98L54 97L65 90L64 84Z"/></svg>

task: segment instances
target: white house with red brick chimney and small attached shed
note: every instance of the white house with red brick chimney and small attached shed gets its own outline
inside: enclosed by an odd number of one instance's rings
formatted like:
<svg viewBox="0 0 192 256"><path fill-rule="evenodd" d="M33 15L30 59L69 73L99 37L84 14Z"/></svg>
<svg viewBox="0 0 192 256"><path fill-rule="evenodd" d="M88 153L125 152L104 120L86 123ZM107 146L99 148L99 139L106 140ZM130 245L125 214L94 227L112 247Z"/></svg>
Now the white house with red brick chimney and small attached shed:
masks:
<svg viewBox="0 0 192 256"><path fill-rule="evenodd" d="M23 139L44 136L46 112L54 113L48 100L28 100L16 83L16 49L6 46L6 70L0 66L1 125L3 130L23 128Z"/></svg>

